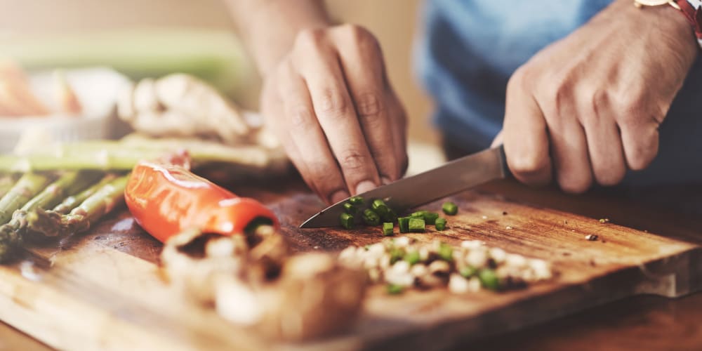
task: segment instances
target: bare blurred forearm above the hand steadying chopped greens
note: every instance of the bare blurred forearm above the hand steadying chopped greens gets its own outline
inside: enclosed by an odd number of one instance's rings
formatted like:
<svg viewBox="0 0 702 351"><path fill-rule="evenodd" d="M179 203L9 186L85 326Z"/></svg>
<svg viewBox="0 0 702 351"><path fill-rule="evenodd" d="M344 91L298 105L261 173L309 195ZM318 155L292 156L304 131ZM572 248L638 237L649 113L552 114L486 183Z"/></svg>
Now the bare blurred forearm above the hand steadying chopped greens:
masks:
<svg viewBox="0 0 702 351"><path fill-rule="evenodd" d="M321 0L226 0L261 75L275 67L300 30L329 24Z"/></svg>

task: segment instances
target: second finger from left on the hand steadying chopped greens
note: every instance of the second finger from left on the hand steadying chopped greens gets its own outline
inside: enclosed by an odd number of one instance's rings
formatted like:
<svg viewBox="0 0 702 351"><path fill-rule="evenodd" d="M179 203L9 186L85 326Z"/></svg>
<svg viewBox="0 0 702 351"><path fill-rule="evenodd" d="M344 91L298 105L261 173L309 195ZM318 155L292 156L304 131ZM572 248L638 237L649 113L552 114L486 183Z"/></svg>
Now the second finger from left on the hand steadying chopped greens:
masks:
<svg viewBox="0 0 702 351"><path fill-rule="evenodd" d="M343 172L348 190L358 194L377 187L380 184L378 169L366 145L336 53L320 52L317 48L306 55L304 62L297 64L309 88L314 114Z"/></svg>

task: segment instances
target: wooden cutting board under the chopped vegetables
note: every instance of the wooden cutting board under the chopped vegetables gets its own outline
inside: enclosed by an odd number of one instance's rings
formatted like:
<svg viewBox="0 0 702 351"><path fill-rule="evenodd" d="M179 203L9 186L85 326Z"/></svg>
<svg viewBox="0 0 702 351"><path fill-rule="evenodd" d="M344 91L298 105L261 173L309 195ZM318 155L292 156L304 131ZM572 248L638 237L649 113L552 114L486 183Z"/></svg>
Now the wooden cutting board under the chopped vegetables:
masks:
<svg viewBox="0 0 702 351"><path fill-rule="evenodd" d="M302 220L322 208L299 183L234 190L273 208L298 251L336 251L383 238L379 228L299 230ZM618 298L675 297L702 289L702 230L689 229L697 223L672 225L676 229L664 236L654 234L667 220L661 213L547 194L511 183L465 192L452 198L460 210L448 217L449 230L410 236L454 244L479 239L542 258L557 270L552 282L463 296L445 290L388 296L376 287L355 329L326 340L294 345L263 340L180 296L159 276L161 245L124 210L88 234L30 249L27 260L0 267L0 319L48 345L74 350L437 350ZM611 221L565 210L609 213ZM649 232L618 225L618 220ZM588 234L600 239L588 241Z"/></svg>

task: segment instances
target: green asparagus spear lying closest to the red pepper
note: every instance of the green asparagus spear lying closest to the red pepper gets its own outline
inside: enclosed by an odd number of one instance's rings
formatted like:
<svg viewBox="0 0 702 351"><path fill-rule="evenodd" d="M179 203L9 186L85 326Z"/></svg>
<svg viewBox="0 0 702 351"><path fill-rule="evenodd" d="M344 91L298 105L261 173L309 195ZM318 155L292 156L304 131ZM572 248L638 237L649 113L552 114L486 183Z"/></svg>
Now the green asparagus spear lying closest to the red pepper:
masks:
<svg viewBox="0 0 702 351"><path fill-rule="evenodd" d="M124 200L127 180L128 175L114 178L66 215L37 208L36 211L27 213L27 230L47 237L66 236L88 230L93 223L112 211L119 201Z"/></svg>

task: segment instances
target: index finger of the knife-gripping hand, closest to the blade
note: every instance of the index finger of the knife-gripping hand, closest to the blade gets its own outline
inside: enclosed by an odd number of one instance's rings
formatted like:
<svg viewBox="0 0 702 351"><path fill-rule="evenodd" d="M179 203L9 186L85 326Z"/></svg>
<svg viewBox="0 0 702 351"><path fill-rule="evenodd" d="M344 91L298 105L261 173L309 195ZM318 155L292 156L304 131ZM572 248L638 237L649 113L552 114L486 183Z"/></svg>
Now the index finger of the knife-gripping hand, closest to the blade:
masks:
<svg viewBox="0 0 702 351"><path fill-rule="evenodd" d="M508 83L503 135L507 164L515 178L531 185L548 184L551 159L546 121L519 73Z"/></svg>

